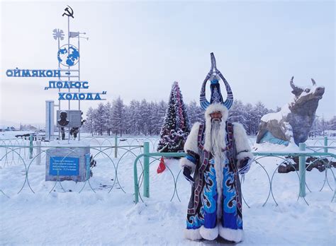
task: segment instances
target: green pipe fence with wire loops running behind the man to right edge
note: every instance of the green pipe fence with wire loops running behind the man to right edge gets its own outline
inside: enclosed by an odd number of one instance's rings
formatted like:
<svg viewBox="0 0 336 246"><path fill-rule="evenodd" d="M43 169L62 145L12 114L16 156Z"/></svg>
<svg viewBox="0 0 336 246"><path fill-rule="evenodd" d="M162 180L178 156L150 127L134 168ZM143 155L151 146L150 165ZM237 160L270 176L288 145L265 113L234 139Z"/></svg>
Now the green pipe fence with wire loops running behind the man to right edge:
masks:
<svg viewBox="0 0 336 246"><path fill-rule="evenodd" d="M308 184L306 182L306 170L308 170L308 168L310 168L310 165L313 165L315 162L317 161L322 161L323 162L323 166L325 168L325 175L324 175L324 181L323 181L323 186L320 188L320 191L322 191L323 187L325 187L325 184L328 185L328 187L330 188L331 191L333 191L333 195L332 195L332 199L331 201L335 200L335 196L336 196L336 189L335 189L335 185L336 185L336 180L335 180L335 173L331 168L331 161L335 160L336 155L333 153L327 153L327 152L316 152L316 151L307 151L306 150L306 144L300 144L300 151L297 152L257 152L254 151L254 160L252 165L257 165L259 166L259 168L262 168L262 170L264 170L264 173L267 177L267 180L269 182L269 189L267 190L267 199L264 201L264 204L262 206L264 206L265 204L267 204L267 201L269 201L269 197L272 197L272 199L274 200L274 203L276 205L278 205L278 202L276 201L275 195L274 195L274 176L276 174L276 172L279 170L279 167L281 165L289 165L291 168L293 168L295 170L296 173L296 177L298 179L298 199L300 197L302 197L304 199L304 201L306 202L307 205L308 201L306 200L306 187L308 188L308 190L311 192L311 190L308 187ZM325 147L325 146L310 146L310 148L323 148L325 151L327 151L327 149L329 148L334 148L334 147ZM149 166L150 166L150 158L154 158L155 160L158 159L158 157L184 157L186 156L185 153L142 153L140 156L138 156L135 161L134 161L134 166L133 166L133 170L134 170L134 192L135 192L135 203L139 202L139 198L143 201L142 197L140 196L140 186L143 185L143 197L150 197L150 175L149 175ZM276 165L276 168L274 170L270 170L269 167L267 167L267 165L263 165L261 163L261 160L264 158L278 158L280 160L280 163L278 163ZM308 166L306 166L306 157L316 157L317 159L313 161L313 163L310 163ZM138 160L140 160L140 158L143 158L143 170L142 173L140 174L140 178L138 178ZM299 158L299 168L298 170L296 170L296 168L293 165L293 158ZM325 158L328 158L327 160L325 160ZM177 173L177 175L174 175L173 172L171 170L169 170L169 172L172 174L172 178L173 178L173 182L174 182L174 192L172 195L172 199L174 198L174 196L177 196L177 199L179 199L179 194L177 191L177 182L181 173L181 170ZM334 181L334 185L330 185L330 181L328 180L328 172L331 173L332 175L332 180ZM143 179L143 182L142 182ZM242 183L243 184L243 183ZM243 185L242 185L243 187ZM244 194L242 196L245 204L249 206L249 204L247 204L247 201L244 197ZM171 199L171 200L172 200ZM179 199L180 200L180 199Z"/></svg>

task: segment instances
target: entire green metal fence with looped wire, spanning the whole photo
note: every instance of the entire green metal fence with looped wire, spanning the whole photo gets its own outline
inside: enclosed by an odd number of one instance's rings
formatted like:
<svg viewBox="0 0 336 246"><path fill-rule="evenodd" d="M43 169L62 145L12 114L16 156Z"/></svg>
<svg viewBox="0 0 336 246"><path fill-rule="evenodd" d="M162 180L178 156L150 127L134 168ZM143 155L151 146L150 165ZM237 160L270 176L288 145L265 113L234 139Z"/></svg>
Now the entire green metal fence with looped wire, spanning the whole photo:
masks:
<svg viewBox="0 0 336 246"><path fill-rule="evenodd" d="M155 180L158 175L150 175L150 167L155 166L159 159L182 157L184 153L157 153L157 136L137 136L137 137L82 137L82 140L90 145L90 153L97 162L97 167L92 168L93 176L85 182L72 182L57 180L55 182L45 182L45 161L48 150L61 148L60 146L50 146L51 143L35 141L32 137L23 139L1 139L0 140L0 193L10 197L12 194L28 192L108 192L112 190L135 194L135 202L143 201L143 197L150 197L151 194L158 194L165 199L177 199L181 201L186 197L189 188L184 181L179 168L166 165L167 182L164 192L157 191L155 184L162 180ZM313 144L312 144L313 142ZM314 146L318 144L318 146ZM243 200L247 206L253 206L253 194L262 193L264 206L273 200L274 204L279 204L279 199L286 191L290 190L297 199L302 198L308 204L306 190L310 192L322 191L326 188L332 192L330 199L335 201L335 172L332 163L335 163L336 152L335 139L310 139L310 144L301 144L301 151L296 153L284 152L254 152L254 161L250 173L246 175L245 182L242 181ZM65 147L62 147L65 148ZM72 149L67 148L69 153ZM152 151L152 152L151 152ZM332 153L333 152L333 153ZM299 159L299 166L293 158ZM306 158L315 157L309 165L306 165ZM315 163L322 163L320 168L323 172L310 177L311 166ZM276 163L276 165L269 165ZM286 175L279 174L279 168L283 166L293 168L293 172ZM305 167L306 165L306 167ZM254 175L251 172L262 170L262 177L254 182ZM260 173L260 172L258 172ZM294 176L295 184L284 187L284 177ZM321 179L320 187L310 185L312 178ZM150 180L152 180L150 182ZM181 181L183 180L183 181ZM262 182L260 181L262 180ZM293 179L292 179L293 180ZM154 181L154 182L153 182ZM247 183L252 184L246 185ZM13 185L20 184L20 185ZM189 185L189 184L188 184ZM260 189L256 187L260 187ZM13 187L16 189L13 191ZM160 186L159 186L160 187ZM143 189L141 195L140 189ZM317 190L316 190L317 189ZM155 193L156 192L156 193ZM279 198L280 197L280 198Z"/></svg>

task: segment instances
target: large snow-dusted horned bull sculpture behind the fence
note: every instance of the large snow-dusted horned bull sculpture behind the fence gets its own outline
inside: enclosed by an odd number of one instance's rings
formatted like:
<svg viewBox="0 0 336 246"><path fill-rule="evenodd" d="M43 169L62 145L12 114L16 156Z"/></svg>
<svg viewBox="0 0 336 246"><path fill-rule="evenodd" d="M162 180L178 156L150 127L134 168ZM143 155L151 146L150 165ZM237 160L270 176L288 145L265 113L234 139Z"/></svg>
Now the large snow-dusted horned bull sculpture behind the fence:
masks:
<svg viewBox="0 0 336 246"><path fill-rule="evenodd" d="M325 88L316 86L313 78L311 88L295 86L291 78L291 88L295 97L279 112L264 115L259 124L256 143L272 144L304 143L315 118L318 101L323 97Z"/></svg>

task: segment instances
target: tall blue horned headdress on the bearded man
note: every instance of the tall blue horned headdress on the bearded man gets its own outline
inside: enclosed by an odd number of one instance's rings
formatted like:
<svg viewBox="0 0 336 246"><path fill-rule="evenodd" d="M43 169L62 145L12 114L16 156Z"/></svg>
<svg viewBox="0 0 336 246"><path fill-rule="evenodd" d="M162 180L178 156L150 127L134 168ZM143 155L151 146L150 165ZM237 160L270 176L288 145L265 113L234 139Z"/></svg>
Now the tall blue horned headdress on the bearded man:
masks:
<svg viewBox="0 0 336 246"><path fill-rule="evenodd" d="M225 102L223 102L222 94L220 93L220 85L219 81L222 79L222 81L225 84L226 92L228 94ZM211 90L211 98L210 102L206 100L206 82L210 81L210 90ZM222 103L228 110L230 110L230 107L233 105L233 92L230 88L230 85L228 81L224 78L222 73L217 69L215 64L215 55L211 53L211 69L206 75L206 78L203 81L202 87L201 87L201 95L199 96L199 102L201 104L201 107L203 110L206 110L208 105L211 105L213 103Z"/></svg>

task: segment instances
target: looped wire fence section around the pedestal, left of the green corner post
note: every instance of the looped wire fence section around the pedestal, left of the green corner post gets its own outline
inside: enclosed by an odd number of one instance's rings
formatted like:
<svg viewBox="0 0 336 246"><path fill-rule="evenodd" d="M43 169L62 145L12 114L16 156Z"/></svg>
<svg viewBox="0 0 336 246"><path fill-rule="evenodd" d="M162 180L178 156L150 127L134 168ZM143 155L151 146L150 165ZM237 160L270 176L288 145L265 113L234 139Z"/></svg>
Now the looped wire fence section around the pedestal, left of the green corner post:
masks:
<svg viewBox="0 0 336 246"><path fill-rule="evenodd" d="M6 197L10 197L11 194L20 194L25 188L33 193L41 190L47 190L49 193L55 191L82 192L84 190L96 192L100 189L111 192L113 188L124 193L131 192L131 185L128 190L125 189L125 184L131 181L128 182L122 178L125 173L123 169L129 168L128 173L131 173L131 163L143 151L143 145L108 146L102 141L101 145L89 146L91 157L99 168L91 167L91 170L88 170L89 173L86 174L88 178L85 182L61 182L58 172L55 182L45 182L47 151L60 148L62 151L67 151L67 154L60 160L62 164L65 158L72 156L74 146L71 144L68 147L52 146L47 142L24 139L11 140L11 144L16 145L8 145L8 143L9 141L6 145L0 145L0 193ZM28 146L25 145L27 143ZM87 147L75 146L75 148ZM90 171L93 173L91 178L89 178ZM13 191L13 189L17 190Z"/></svg>

